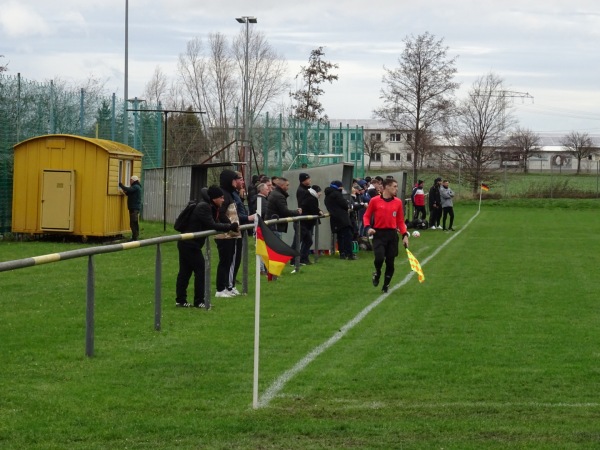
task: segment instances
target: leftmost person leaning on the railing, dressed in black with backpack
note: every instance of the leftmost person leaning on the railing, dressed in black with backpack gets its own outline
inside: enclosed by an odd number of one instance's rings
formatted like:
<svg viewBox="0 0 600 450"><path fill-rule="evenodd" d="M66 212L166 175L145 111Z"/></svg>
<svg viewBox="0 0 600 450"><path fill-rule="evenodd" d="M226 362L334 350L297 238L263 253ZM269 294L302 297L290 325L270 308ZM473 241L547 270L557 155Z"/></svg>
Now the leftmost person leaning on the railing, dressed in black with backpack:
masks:
<svg viewBox="0 0 600 450"><path fill-rule="evenodd" d="M216 186L203 188L200 191L200 202L194 208L190 220L182 233L197 233L200 231L237 231L238 223L218 222L219 207L225 201L223 190ZM179 253L179 272L175 284L175 306L188 308L206 308L204 302L204 255L202 247L206 237L197 239L186 239L177 241L177 252ZM187 288L190 278L194 274L194 303L187 301ZM208 304L210 308L210 302Z"/></svg>

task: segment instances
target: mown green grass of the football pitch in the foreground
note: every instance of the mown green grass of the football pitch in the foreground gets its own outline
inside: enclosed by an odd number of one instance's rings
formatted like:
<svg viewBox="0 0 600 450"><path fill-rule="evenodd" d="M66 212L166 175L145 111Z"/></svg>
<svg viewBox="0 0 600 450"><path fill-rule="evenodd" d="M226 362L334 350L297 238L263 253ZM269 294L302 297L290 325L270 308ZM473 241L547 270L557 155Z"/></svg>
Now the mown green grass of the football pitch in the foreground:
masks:
<svg viewBox="0 0 600 450"><path fill-rule="evenodd" d="M0 273L0 448L598 448L597 201L484 202L467 228L477 203L455 210L461 234L431 260L449 234L411 240L425 283L411 278L256 411L252 277L246 298L176 309L163 245L156 332L155 249L97 256L86 358L86 259ZM2 242L0 258L80 246ZM359 257L263 283L261 393L378 298L372 255ZM408 273L401 253L393 281Z"/></svg>

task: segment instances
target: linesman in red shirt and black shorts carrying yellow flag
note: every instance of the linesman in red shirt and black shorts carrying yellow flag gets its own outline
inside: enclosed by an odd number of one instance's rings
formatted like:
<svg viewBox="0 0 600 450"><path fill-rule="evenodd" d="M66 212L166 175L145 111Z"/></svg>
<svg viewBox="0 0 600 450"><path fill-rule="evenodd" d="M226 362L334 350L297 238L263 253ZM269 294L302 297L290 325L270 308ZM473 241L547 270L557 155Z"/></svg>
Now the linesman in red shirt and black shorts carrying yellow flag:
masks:
<svg viewBox="0 0 600 450"><path fill-rule="evenodd" d="M375 272L373 286L379 285L381 269L385 262L385 274L381 290L387 292L394 275L394 260L398 256L398 234L402 235L402 243L408 248L408 230L404 221L402 200L398 197L398 182L393 178L383 181L383 192L371 199L363 223L367 236L373 236L373 254Z"/></svg>

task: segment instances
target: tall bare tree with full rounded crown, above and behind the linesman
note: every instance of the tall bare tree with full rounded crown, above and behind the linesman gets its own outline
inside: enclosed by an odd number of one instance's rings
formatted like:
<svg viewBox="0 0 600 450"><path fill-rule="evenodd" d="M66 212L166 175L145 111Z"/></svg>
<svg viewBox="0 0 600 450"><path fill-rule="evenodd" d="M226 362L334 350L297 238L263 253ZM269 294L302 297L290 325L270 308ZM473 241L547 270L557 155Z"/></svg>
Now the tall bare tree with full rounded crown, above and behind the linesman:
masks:
<svg viewBox="0 0 600 450"><path fill-rule="evenodd" d="M447 56L448 47L443 42L428 32L405 38L399 67L384 67L380 96L384 105L374 111L376 117L387 120L394 129L413 133L414 139L409 145L414 153L415 183L422 160L422 136L451 110L454 91L459 86L453 81L457 58Z"/></svg>

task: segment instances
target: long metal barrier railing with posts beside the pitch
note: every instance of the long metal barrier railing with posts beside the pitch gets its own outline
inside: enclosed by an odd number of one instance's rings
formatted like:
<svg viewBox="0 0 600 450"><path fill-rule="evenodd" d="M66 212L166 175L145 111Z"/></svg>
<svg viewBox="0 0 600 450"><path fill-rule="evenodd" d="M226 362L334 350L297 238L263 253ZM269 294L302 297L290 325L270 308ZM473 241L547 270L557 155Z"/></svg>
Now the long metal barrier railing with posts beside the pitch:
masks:
<svg viewBox="0 0 600 450"><path fill-rule="evenodd" d="M300 222L302 220L315 220L329 217L329 214L323 216L298 216L298 217L287 217L285 219L272 219L265 220L267 225L285 222ZM254 224L242 225L240 230L242 233L242 263L244 264L243 270L243 293L248 292L248 233L246 230L254 228ZM74 258L88 257L88 268L87 268L87 289L86 289L86 337L85 337L85 354L86 356L94 356L94 311L95 311L95 270L94 270L94 255L100 255L103 253L114 253L123 250L132 250L141 247L148 247L156 245L156 257L154 264L154 329L160 331L161 329L161 316L162 316L162 255L160 245L168 242L185 241L191 239L197 239L199 237L212 236L215 234L222 233L221 231L201 231L198 233L183 233L171 236L162 236L151 239L143 239L140 241L124 242L122 244L103 245L100 247L87 247L77 250L69 250L59 253L51 253L48 255L34 256L31 258L15 259L12 261L0 262L0 272L6 272L8 270L23 269L31 266L38 266L41 264L49 264L59 261L66 261ZM296 233L296 245L299 248L300 233ZM319 227L315 227L315 249L319 248ZM204 258L206 261L205 270L205 298L210 304L210 241L207 239L205 244L206 251ZM244 258L244 253L246 257ZM315 252L318 257L318 251ZM299 259L296 259L296 270L300 267ZM208 305L207 305L208 306Z"/></svg>

